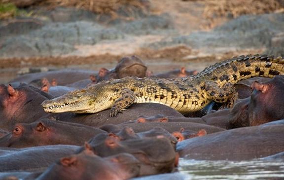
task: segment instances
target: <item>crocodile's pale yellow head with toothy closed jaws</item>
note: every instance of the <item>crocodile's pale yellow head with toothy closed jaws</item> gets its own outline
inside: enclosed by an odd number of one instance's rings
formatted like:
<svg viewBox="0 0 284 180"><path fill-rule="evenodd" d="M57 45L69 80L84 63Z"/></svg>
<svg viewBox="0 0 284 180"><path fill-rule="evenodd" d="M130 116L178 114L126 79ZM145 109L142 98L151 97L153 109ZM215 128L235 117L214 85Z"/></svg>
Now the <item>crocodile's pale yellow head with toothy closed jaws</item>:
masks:
<svg viewBox="0 0 284 180"><path fill-rule="evenodd" d="M46 113L97 113L110 108L113 94L107 93L107 86L96 84L83 90L73 90L51 100L45 100L41 106Z"/></svg>

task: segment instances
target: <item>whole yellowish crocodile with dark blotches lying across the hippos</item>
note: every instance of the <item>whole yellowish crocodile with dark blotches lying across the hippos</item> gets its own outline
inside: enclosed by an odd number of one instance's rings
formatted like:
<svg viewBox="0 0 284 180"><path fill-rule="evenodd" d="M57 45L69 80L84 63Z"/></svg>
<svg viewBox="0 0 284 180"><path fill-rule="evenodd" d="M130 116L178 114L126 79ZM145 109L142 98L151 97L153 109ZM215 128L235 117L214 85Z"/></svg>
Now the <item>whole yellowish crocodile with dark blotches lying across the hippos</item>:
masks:
<svg viewBox="0 0 284 180"><path fill-rule="evenodd" d="M177 79L125 77L103 81L41 105L47 113L97 113L116 116L134 103L160 103L182 114L201 110L211 101L232 107L238 93L233 84L251 77L284 74L284 59L247 55L217 62L196 75Z"/></svg>

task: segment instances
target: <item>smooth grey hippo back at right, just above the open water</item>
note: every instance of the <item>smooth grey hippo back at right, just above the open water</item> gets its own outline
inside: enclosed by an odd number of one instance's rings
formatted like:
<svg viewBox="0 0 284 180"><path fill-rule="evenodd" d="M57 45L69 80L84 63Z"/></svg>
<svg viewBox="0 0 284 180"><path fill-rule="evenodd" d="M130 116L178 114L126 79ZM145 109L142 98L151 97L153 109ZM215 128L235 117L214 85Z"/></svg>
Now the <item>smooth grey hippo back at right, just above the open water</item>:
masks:
<svg viewBox="0 0 284 180"><path fill-rule="evenodd" d="M211 160L249 160L284 151L284 120L241 127L177 144L181 157Z"/></svg>

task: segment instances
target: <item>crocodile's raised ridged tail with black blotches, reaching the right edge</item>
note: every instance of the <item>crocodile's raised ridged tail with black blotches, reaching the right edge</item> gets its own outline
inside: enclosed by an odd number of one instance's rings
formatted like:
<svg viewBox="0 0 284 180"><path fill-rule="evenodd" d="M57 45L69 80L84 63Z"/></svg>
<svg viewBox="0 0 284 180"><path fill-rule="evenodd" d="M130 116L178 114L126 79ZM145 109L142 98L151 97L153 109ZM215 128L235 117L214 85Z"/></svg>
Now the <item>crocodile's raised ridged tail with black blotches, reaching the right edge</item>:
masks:
<svg viewBox="0 0 284 180"><path fill-rule="evenodd" d="M284 59L267 55L247 55L234 57L209 66L196 77L204 76L220 86L226 83L235 84L252 77L269 77L284 75Z"/></svg>

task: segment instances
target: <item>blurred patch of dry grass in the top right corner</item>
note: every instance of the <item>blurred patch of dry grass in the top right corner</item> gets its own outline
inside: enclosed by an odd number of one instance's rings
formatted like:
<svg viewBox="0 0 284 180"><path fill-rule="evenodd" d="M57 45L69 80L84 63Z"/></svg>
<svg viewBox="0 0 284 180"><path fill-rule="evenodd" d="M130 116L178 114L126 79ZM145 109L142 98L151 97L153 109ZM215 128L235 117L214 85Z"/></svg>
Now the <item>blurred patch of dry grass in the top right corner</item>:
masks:
<svg viewBox="0 0 284 180"><path fill-rule="evenodd" d="M205 0L206 18L263 14L284 10L283 0Z"/></svg>

